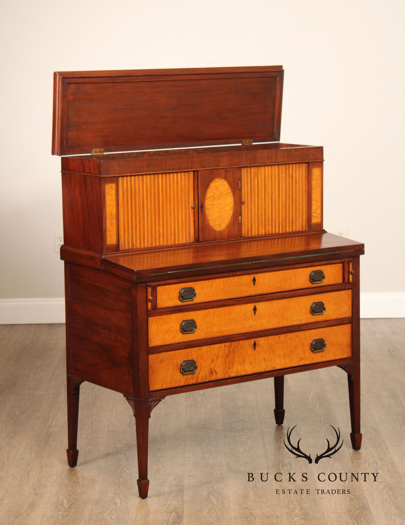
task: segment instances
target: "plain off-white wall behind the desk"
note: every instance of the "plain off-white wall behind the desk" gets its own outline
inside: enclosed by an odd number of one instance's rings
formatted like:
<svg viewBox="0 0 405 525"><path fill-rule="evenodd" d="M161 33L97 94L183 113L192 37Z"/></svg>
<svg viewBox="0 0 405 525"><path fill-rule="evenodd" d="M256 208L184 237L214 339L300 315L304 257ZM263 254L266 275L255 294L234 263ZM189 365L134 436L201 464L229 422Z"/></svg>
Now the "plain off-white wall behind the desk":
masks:
<svg viewBox="0 0 405 525"><path fill-rule="evenodd" d="M325 228L365 242L363 292L405 291L402 1L3 0L1 11L0 298L64 295L54 70L277 64L281 140L324 145Z"/></svg>

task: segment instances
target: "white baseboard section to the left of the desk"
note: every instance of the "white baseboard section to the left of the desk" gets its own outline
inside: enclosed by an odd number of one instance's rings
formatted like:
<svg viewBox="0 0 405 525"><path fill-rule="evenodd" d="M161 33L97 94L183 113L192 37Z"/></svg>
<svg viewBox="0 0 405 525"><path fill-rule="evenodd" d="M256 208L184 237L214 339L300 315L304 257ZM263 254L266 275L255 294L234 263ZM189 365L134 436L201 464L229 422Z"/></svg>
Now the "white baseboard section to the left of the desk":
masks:
<svg viewBox="0 0 405 525"><path fill-rule="evenodd" d="M65 322L65 298L0 299L0 324Z"/></svg>

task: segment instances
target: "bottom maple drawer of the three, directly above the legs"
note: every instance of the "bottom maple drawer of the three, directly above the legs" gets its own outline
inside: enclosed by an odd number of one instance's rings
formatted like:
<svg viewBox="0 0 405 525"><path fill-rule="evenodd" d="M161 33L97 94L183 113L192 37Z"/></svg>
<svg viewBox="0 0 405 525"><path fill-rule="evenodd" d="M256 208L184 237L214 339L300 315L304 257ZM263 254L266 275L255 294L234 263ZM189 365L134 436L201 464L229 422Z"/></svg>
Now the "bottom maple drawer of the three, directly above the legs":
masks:
<svg viewBox="0 0 405 525"><path fill-rule="evenodd" d="M324 339L326 348L314 352L311 342L319 339ZM321 341L317 344L323 348ZM314 343L315 349L319 346ZM150 354L149 390L333 361L350 355L351 324ZM195 361L197 370L183 375L181 364L190 360ZM193 366L191 363L189 370Z"/></svg>

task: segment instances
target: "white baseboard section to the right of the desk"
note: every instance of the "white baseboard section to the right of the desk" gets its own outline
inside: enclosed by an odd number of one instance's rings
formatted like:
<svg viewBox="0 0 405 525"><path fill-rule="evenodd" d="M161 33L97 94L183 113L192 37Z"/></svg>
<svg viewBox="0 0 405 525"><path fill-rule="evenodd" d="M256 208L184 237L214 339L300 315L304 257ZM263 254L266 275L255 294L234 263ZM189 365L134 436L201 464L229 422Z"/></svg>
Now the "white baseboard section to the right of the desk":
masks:
<svg viewBox="0 0 405 525"><path fill-rule="evenodd" d="M360 293L361 319L405 317L405 292Z"/></svg>

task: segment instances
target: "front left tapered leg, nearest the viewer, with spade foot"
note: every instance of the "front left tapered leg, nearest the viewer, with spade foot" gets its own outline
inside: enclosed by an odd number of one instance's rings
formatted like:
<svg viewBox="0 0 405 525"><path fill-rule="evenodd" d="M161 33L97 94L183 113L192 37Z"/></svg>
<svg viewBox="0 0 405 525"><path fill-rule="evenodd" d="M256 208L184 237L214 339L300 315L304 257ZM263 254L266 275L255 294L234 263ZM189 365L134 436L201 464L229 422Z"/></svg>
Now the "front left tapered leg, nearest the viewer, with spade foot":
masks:
<svg viewBox="0 0 405 525"><path fill-rule="evenodd" d="M138 400L134 397L124 396L131 405L133 415L135 416L135 425L137 428L137 451L138 451L138 492L139 497L145 499L148 497L149 479L148 479L148 434L149 434L149 416L151 407L149 399Z"/></svg>

